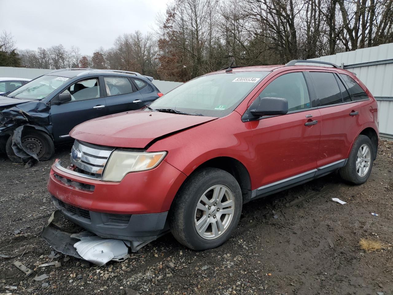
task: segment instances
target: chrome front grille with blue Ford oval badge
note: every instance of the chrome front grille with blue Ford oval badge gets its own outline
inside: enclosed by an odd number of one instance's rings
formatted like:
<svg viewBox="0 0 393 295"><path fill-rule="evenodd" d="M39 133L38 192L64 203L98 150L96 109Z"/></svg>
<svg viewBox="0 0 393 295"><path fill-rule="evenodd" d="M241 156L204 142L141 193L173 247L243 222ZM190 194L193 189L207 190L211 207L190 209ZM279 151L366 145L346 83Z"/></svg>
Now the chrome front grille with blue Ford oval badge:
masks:
<svg viewBox="0 0 393 295"><path fill-rule="evenodd" d="M75 166L74 171L101 178L105 164L113 150L113 147L97 146L75 140L70 156Z"/></svg>

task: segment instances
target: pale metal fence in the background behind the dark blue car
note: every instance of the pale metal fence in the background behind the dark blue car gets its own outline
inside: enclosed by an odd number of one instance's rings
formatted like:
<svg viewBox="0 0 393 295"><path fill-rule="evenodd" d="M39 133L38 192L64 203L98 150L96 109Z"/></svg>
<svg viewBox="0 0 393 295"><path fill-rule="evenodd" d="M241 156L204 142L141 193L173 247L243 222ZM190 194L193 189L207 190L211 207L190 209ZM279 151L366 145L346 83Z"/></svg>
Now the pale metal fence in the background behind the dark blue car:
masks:
<svg viewBox="0 0 393 295"><path fill-rule="evenodd" d="M12 78L27 78L35 79L39 76L48 74L53 70L40 69L40 68L13 68L10 66L0 66L0 77L12 77ZM182 82L172 81L161 81L153 80L153 84L162 92L167 93L172 89L182 85Z"/></svg>

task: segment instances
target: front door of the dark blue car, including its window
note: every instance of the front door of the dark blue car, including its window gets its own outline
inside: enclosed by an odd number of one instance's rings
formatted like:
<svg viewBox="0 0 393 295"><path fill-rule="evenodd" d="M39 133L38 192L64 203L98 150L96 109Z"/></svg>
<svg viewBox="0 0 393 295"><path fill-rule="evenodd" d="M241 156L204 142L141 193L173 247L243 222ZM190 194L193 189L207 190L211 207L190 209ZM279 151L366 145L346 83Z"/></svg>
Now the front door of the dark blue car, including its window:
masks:
<svg viewBox="0 0 393 295"><path fill-rule="evenodd" d="M78 81L64 90L69 92L71 101L51 105L51 122L55 142L70 140L68 133L78 124L105 116L106 105L98 77Z"/></svg>

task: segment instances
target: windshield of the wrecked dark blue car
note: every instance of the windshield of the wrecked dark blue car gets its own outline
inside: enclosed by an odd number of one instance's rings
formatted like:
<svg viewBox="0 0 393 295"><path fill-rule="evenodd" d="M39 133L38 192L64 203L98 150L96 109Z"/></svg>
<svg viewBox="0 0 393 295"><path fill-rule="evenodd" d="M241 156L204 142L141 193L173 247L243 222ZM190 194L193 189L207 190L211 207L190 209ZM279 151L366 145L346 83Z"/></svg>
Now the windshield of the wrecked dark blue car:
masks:
<svg viewBox="0 0 393 295"><path fill-rule="evenodd" d="M22 100L40 100L61 87L69 79L66 77L44 75L10 92L7 96Z"/></svg>

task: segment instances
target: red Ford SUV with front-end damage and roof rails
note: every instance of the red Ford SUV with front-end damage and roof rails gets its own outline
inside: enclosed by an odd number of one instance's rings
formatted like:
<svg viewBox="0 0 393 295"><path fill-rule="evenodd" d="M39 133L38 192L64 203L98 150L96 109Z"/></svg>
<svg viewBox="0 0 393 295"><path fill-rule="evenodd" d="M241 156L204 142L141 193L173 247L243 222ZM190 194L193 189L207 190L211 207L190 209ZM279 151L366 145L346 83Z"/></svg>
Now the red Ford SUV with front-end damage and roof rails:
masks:
<svg viewBox="0 0 393 295"><path fill-rule="evenodd" d="M171 231L204 250L228 240L248 201L336 170L364 183L378 147L377 103L333 64L234 67L70 136L72 164L56 160L48 181L68 219L133 249Z"/></svg>

